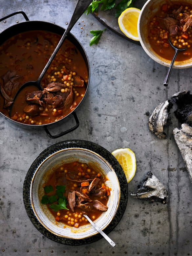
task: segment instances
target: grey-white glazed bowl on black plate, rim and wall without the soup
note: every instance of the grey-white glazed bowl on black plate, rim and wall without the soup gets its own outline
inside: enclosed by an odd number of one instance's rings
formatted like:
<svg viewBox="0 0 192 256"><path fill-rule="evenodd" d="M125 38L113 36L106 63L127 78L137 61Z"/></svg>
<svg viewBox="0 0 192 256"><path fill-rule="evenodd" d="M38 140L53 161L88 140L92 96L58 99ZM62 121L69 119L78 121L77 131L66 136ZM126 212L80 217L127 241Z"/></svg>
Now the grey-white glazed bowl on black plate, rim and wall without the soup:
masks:
<svg viewBox="0 0 192 256"><path fill-rule="evenodd" d="M120 187L117 175L112 166L99 154L83 148L68 148L54 152L38 166L32 177L30 187L30 200L34 215L38 221L51 233L56 236L69 239L83 239L94 236L98 232L96 229L87 224L79 228L65 226L59 223L55 224L53 215L49 212L46 205L41 204L41 198L44 195L43 184L53 172L53 168L57 168L64 163L80 161L94 166L97 170L107 177L105 182L112 191L107 206L108 210L103 212L95 221L95 224L101 229L105 229L113 220L120 200Z"/></svg>

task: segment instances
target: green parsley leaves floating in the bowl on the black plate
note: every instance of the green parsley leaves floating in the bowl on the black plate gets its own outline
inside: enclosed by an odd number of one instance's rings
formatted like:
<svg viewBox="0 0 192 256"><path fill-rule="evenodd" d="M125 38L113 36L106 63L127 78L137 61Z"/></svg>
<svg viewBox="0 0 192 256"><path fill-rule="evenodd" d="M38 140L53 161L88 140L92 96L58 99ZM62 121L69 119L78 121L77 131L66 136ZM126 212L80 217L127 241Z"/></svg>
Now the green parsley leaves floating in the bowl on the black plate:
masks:
<svg viewBox="0 0 192 256"><path fill-rule="evenodd" d="M56 186L55 195L44 195L41 199L41 203L42 204L51 204L51 205L49 205L49 207L51 209L53 209L53 211L55 211L55 212L62 210L62 209L69 210L66 207L67 198L63 195L63 193L65 192L65 187L66 186ZM53 192L53 187L51 185L44 187L44 192L46 194Z"/></svg>

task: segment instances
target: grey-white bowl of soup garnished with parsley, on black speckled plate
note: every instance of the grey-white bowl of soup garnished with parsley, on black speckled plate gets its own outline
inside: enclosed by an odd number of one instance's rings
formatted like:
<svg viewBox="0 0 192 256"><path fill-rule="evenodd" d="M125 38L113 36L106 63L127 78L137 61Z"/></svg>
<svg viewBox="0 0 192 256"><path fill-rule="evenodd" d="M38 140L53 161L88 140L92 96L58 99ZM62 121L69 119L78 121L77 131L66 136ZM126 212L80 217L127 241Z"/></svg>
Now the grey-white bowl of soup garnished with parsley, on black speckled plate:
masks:
<svg viewBox="0 0 192 256"><path fill-rule="evenodd" d="M30 203L39 223L65 239L85 239L104 230L117 213L120 186L115 170L98 153L85 148L53 152L34 170Z"/></svg>

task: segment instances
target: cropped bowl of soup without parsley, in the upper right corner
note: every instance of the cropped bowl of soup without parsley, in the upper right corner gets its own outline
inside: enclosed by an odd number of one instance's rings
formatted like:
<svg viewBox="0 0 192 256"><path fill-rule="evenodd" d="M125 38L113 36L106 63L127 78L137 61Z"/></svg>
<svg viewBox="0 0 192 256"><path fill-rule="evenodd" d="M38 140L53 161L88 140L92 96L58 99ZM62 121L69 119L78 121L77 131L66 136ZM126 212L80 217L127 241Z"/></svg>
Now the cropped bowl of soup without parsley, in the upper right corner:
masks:
<svg viewBox="0 0 192 256"><path fill-rule="evenodd" d="M179 49L174 68L192 67L192 3L190 0L148 0L138 19L139 41L146 54L164 66L170 66Z"/></svg>

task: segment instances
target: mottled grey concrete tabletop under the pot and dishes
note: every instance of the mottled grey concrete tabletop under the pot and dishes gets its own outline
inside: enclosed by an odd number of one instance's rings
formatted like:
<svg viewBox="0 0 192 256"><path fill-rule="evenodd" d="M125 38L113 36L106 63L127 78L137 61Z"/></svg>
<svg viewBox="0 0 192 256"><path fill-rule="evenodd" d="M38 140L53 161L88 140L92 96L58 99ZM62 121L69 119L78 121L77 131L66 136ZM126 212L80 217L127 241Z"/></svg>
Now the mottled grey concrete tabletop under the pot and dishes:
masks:
<svg viewBox="0 0 192 256"><path fill-rule="evenodd" d="M45 20L66 27L73 1L2 0L0 17L23 10L30 20ZM0 23L0 31L23 21L22 16ZM42 130L26 130L0 116L0 255L192 255L192 184L172 130L180 127L172 113L168 137L159 140L148 130L148 116L162 101L191 89L191 69L174 69L169 86L163 81L167 68L150 59L141 46L107 29L97 45L89 46L90 30L102 30L93 15L85 15L72 33L82 43L91 66L87 97L76 111L80 126L58 139ZM73 121L54 131L71 127ZM108 151L128 147L135 152L137 171L128 184L129 195L151 170L169 191L168 203L128 198L123 218L105 239L70 246L42 236L28 218L22 198L25 175L37 155L54 143L82 139Z"/></svg>

